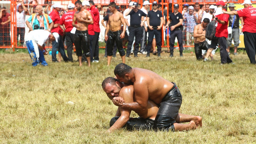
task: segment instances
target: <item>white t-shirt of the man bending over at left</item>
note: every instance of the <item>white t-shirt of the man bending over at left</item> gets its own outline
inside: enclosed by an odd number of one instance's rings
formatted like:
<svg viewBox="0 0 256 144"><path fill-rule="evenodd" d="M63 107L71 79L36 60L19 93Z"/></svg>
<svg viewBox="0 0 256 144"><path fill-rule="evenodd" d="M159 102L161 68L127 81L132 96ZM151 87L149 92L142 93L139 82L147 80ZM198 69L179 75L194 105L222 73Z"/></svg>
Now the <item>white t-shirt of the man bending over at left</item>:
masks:
<svg viewBox="0 0 256 144"><path fill-rule="evenodd" d="M49 38L50 34L51 33L47 30L32 30L26 35L25 41L33 40L36 44L42 46Z"/></svg>

